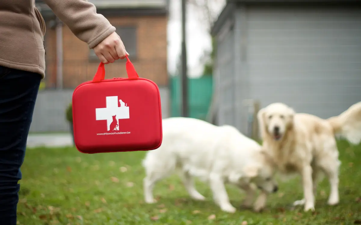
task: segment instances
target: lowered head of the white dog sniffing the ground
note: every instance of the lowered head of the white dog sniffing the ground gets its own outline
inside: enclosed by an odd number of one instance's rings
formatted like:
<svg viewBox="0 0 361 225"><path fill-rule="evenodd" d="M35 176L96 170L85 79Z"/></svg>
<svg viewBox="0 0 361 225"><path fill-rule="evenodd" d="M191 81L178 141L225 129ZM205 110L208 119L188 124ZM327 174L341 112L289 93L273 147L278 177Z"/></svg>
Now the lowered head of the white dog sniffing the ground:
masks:
<svg viewBox="0 0 361 225"><path fill-rule="evenodd" d="M275 193L278 191L277 181L274 179L275 167L274 162L265 150L258 153L259 164L247 165L244 168L245 176L255 183L258 189L267 193Z"/></svg>

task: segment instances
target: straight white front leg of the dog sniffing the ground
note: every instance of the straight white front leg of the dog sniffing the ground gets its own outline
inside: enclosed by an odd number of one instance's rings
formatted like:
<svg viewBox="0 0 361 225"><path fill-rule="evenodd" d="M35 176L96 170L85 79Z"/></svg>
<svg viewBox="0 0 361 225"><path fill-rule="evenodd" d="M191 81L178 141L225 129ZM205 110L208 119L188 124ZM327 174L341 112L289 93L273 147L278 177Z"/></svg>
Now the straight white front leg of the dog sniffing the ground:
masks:
<svg viewBox="0 0 361 225"><path fill-rule="evenodd" d="M209 177L210 188L213 192L214 201L221 207L222 211L234 213L236 208L229 202L224 181L218 174L211 174Z"/></svg>

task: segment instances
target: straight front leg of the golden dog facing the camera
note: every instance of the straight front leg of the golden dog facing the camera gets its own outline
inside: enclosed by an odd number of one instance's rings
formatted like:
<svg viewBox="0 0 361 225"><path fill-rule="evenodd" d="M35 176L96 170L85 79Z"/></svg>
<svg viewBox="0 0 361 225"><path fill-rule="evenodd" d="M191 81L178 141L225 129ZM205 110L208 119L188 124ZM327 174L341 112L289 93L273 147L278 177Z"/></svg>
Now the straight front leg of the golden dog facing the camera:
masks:
<svg viewBox="0 0 361 225"><path fill-rule="evenodd" d="M305 211L314 211L314 195L312 182L312 167L305 165L302 169L303 193L305 197Z"/></svg>

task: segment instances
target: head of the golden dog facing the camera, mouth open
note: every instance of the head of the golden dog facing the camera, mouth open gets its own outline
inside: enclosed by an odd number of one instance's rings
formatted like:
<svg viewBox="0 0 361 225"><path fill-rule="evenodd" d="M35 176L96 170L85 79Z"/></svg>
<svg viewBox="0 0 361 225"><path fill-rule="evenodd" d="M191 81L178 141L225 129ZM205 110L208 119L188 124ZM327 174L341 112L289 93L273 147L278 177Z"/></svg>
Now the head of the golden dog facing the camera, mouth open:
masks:
<svg viewBox="0 0 361 225"><path fill-rule="evenodd" d="M261 109L257 118L262 136L270 135L276 141L281 140L293 127L294 115L295 111L283 103L272 103Z"/></svg>

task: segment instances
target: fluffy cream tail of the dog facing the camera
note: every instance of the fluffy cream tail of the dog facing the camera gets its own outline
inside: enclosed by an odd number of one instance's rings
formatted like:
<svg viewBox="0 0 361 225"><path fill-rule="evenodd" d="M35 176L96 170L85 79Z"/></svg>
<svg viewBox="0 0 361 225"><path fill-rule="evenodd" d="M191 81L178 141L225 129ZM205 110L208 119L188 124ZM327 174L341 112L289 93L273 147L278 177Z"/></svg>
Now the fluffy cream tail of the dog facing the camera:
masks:
<svg viewBox="0 0 361 225"><path fill-rule="evenodd" d="M341 136L351 144L359 144L361 141L361 102L351 105L339 116L328 118L334 134Z"/></svg>

